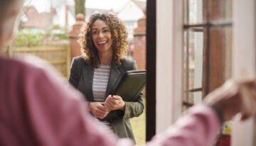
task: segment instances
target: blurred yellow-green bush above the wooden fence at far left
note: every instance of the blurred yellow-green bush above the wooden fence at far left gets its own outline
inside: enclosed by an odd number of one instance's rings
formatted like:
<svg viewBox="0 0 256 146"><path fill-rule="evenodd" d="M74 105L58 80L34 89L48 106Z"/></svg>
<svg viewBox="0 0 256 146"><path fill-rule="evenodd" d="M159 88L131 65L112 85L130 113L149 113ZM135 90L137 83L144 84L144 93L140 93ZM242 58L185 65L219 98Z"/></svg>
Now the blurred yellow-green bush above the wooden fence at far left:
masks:
<svg viewBox="0 0 256 146"><path fill-rule="evenodd" d="M37 46L43 39L43 32L33 31L31 28L24 28L16 33L14 45L16 46Z"/></svg>

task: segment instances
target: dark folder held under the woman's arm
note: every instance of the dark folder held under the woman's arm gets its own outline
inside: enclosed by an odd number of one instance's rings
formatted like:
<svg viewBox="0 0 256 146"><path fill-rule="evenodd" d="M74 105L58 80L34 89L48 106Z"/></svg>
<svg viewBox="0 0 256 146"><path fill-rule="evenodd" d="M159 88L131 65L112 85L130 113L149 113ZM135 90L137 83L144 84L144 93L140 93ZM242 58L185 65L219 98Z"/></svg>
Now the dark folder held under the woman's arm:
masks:
<svg viewBox="0 0 256 146"><path fill-rule="evenodd" d="M121 82L119 82L117 89L112 95L119 95L124 101L137 101L137 97L142 93L146 85L146 71L145 70L131 70L127 71ZM114 120L114 118L122 118L123 112L120 110L111 111L102 120Z"/></svg>

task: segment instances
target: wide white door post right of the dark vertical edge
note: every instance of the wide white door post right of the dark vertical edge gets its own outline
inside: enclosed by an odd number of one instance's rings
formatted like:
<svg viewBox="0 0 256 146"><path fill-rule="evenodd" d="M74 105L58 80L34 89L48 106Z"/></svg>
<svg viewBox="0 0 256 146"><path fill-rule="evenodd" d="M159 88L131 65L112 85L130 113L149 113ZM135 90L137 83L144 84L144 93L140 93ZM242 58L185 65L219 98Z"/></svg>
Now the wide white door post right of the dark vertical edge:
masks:
<svg viewBox="0 0 256 146"><path fill-rule="evenodd" d="M156 1L156 133L181 113L181 4L180 0Z"/></svg>

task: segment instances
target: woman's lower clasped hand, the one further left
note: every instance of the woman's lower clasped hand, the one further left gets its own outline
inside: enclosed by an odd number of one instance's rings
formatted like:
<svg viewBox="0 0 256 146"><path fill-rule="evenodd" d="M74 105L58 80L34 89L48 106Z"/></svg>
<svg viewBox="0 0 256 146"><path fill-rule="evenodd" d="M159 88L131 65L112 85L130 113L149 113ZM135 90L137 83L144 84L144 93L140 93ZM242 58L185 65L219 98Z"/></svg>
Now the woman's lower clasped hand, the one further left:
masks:
<svg viewBox="0 0 256 146"><path fill-rule="evenodd" d="M107 108L105 108L104 102L91 102L89 104L89 110L95 117L100 119L105 118L109 113Z"/></svg>

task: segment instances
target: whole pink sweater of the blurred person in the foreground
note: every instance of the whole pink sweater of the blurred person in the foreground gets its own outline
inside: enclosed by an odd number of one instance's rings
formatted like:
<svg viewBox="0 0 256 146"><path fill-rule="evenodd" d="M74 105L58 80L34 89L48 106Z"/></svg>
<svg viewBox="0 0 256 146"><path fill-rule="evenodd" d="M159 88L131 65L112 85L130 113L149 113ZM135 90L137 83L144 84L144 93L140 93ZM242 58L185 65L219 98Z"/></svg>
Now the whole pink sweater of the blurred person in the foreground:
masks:
<svg viewBox="0 0 256 146"><path fill-rule="evenodd" d="M51 67L46 71L41 64L4 57L0 67L0 145L132 145L102 130L82 94L67 88ZM207 146L219 129L215 111L196 106L146 144Z"/></svg>

